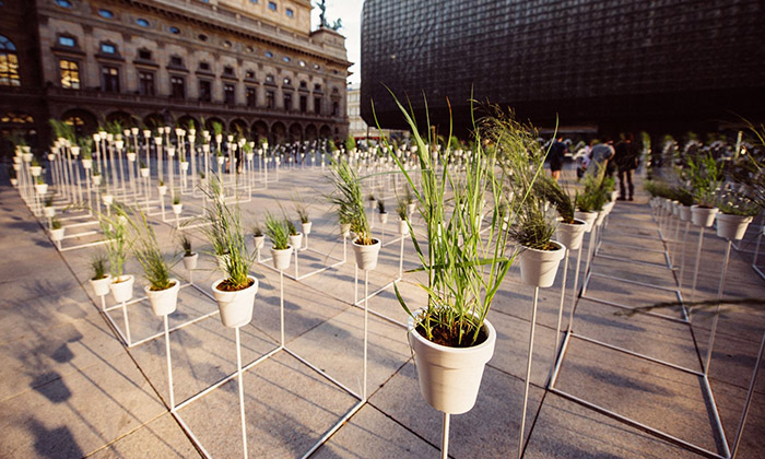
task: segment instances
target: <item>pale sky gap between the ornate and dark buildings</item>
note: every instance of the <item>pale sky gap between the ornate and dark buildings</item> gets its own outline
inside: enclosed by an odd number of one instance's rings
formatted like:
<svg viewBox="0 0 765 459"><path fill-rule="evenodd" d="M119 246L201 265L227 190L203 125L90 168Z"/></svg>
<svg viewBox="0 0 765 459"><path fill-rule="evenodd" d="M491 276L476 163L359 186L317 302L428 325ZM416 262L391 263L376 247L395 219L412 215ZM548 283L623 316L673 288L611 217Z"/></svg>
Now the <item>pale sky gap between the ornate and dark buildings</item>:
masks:
<svg viewBox="0 0 765 459"><path fill-rule="evenodd" d="M313 0L314 10L310 15L311 30L319 26L318 0ZM343 26L338 31L345 36L348 60L354 62L349 69L353 74L348 79L350 83L360 83L362 80L362 4L364 0L327 0L327 22L332 24L337 19L342 20Z"/></svg>

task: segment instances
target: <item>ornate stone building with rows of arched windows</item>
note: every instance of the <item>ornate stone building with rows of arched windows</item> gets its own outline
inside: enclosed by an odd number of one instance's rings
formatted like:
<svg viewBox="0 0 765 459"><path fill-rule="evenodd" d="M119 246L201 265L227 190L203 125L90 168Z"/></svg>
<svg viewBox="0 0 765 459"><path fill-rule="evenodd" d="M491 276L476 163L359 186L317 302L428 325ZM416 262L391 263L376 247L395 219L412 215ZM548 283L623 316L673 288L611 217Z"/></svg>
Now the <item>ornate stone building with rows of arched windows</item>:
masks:
<svg viewBox="0 0 765 459"><path fill-rule="evenodd" d="M0 130L219 121L272 142L348 137L344 37L309 0L3 0Z"/></svg>

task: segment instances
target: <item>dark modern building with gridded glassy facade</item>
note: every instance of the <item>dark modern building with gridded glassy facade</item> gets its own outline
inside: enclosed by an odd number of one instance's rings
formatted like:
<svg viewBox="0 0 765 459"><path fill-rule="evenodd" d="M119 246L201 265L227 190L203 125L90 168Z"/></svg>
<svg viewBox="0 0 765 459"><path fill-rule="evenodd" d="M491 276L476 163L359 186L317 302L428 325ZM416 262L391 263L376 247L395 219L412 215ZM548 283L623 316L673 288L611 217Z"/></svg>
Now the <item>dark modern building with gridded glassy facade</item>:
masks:
<svg viewBox="0 0 765 459"><path fill-rule="evenodd" d="M440 132L447 97L462 132L471 98L605 133L765 119L762 0L366 0L362 21L362 116L386 128L386 86Z"/></svg>

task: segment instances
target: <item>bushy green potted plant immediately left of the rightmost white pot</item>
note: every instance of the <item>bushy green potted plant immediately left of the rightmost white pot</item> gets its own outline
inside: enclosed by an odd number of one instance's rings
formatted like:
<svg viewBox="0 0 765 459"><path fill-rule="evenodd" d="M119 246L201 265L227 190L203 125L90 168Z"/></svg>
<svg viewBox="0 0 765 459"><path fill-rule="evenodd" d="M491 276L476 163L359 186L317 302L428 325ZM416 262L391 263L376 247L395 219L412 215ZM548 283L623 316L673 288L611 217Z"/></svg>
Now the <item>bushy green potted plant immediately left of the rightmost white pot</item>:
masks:
<svg viewBox="0 0 765 459"><path fill-rule="evenodd" d="M687 160L694 205L691 207L693 224L709 227L715 222L717 190L722 183L722 166L715 161L711 153L699 154Z"/></svg>

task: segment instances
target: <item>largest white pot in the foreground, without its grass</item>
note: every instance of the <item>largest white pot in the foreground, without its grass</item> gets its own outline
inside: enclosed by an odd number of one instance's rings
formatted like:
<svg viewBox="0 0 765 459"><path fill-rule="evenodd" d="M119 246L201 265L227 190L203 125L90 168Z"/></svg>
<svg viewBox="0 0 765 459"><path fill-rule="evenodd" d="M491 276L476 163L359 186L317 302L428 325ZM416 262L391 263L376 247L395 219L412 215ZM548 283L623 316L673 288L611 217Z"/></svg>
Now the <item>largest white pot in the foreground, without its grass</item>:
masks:
<svg viewBox="0 0 765 459"><path fill-rule="evenodd" d="M431 407L449 414L461 414L473 408L484 367L494 355L496 344L492 323L484 320L483 328L487 338L481 344L448 348L426 340L414 329L414 319L409 318L407 337L414 354L420 392Z"/></svg>

